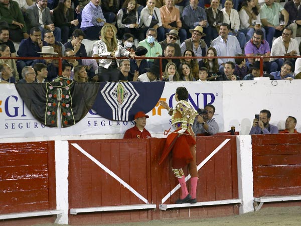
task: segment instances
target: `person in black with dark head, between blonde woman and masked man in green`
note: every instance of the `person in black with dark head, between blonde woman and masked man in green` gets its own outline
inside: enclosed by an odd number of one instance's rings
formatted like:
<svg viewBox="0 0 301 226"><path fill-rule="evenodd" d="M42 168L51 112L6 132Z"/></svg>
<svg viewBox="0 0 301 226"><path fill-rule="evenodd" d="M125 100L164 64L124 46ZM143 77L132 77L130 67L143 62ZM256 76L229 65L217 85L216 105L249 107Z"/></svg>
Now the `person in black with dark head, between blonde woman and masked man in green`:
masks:
<svg viewBox="0 0 301 226"><path fill-rule="evenodd" d="M148 62L145 59L141 59L139 57L145 57L145 54L147 53L147 49L145 49L143 46L138 46L136 49L136 58L135 59L129 59L130 62L130 72L134 74L136 71L138 72L138 75L144 74L147 72L146 68L148 68Z"/></svg>

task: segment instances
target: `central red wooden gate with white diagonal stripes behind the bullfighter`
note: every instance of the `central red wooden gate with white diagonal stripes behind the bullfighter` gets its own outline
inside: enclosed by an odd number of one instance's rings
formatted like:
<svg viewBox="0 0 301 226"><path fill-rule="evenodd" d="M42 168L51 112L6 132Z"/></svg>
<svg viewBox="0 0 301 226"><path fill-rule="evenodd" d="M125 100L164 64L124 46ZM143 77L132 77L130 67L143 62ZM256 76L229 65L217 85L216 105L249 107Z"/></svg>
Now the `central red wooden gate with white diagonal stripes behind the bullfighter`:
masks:
<svg viewBox="0 0 301 226"><path fill-rule="evenodd" d="M226 138L231 140L200 170L197 190L198 201L238 198L236 137L198 137L197 165L213 152ZM144 202L121 185L109 173L86 157L71 144L76 143L97 161L135 189L157 210L85 213L70 215L70 224L97 222L143 221L163 218L206 217L237 214L236 205L193 207L160 210L159 204L177 184L166 161L158 162L165 139L93 140L69 142L69 208L143 204ZM187 175L187 169L184 169ZM190 183L188 183L190 185ZM179 190L165 204L175 203Z"/></svg>

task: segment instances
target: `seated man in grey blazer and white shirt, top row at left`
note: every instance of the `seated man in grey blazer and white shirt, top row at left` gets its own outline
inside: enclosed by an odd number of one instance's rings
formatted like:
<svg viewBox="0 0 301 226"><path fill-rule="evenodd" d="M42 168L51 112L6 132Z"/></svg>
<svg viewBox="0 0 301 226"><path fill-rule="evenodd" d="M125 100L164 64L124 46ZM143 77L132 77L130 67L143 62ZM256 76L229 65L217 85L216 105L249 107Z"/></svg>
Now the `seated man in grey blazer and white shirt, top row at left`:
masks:
<svg viewBox="0 0 301 226"><path fill-rule="evenodd" d="M44 32L46 30L50 30L53 32L55 40L59 42L61 41L61 29L54 26L46 0L37 0L37 4L30 6L26 10L25 19L28 29L33 27L39 28L41 30L42 37L44 37Z"/></svg>

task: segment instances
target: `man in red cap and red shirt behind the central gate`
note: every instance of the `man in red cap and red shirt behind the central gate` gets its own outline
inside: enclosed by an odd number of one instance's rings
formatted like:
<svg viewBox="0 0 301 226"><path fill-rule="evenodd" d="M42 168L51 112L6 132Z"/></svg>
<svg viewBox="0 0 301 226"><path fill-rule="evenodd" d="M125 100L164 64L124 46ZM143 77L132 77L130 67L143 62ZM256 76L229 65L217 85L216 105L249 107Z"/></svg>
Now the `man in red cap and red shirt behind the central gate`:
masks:
<svg viewBox="0 0 301 226"><path fill-rule="evenodd" d="M145 115L143 111L137 112L134 117L135 126L125 131L123 139L137 139L137 138L150 138L150 133L145 130L146 119L149 116Z"/></svg>

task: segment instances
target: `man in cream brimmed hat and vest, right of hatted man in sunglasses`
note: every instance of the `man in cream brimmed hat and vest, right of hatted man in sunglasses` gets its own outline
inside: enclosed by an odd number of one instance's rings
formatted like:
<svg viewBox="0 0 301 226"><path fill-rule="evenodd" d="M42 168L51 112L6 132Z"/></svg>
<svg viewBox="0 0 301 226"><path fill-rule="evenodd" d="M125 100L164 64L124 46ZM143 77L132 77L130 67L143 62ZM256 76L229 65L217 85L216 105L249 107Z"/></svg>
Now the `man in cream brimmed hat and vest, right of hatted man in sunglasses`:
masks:
<svg viewBox="0 0 301 226"><path fill-rule="evenodd" d="M206 36L206 34L203 33L203 27L197 26L195 27L195 29L189 29L189 32L191 33L191 38L186 39L182 43L182 54L185 52L186 49L191 49L193 50L195 56L206 56L208 46L206 45L205 41L201 39L202 37ZM200 60L201 58L198 59L198 61Z"/></svg>

